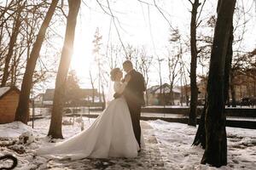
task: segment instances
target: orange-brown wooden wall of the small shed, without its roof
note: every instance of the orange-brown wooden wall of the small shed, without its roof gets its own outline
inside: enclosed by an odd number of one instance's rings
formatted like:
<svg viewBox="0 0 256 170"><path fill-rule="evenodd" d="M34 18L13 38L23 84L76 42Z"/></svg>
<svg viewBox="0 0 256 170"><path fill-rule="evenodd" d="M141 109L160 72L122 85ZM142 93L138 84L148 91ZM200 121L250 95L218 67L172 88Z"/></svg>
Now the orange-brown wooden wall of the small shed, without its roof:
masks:
<svg viewBox="0 0 256 170"><path fill-rule="evenodd" d="M12 90L0 99L0 123L15 121L15 112L19 102L19 94Z"/></svg>

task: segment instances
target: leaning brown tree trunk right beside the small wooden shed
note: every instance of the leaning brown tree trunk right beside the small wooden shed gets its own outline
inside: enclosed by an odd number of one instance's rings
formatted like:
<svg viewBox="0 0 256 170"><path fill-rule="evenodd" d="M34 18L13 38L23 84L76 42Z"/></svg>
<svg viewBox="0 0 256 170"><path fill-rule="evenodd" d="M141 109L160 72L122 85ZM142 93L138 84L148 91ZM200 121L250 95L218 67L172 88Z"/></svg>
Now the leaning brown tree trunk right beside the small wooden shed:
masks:
<svg viewBox="0 0 256 170"><path fill-rule="evenodd" d="M49 22L55 12L57 3L58 0L53 0L50 4L49 10L47 11L43 24L38 32L36 42L33 45L30 58L27 60L26 70L21 84L19 104L15 113L15 121L27 123L27 114L29 112L29 95L32 88L32 76L37 64L40 49L44 42L46 30L49 27Z"/></svg>

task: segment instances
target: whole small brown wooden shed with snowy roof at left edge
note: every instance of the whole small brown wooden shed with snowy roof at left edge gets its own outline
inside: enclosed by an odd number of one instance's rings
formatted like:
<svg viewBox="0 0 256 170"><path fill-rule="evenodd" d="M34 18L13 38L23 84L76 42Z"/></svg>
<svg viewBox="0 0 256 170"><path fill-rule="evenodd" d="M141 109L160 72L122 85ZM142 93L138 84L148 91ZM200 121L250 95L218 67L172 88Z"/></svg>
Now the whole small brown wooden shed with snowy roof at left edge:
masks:
<svg viewBox="0 0 256 170"><path fill-rule="evenodd" d="M15 121L15 112L19 103L19 97L20 90L18 88L0 88L0 123Z"/></svg>

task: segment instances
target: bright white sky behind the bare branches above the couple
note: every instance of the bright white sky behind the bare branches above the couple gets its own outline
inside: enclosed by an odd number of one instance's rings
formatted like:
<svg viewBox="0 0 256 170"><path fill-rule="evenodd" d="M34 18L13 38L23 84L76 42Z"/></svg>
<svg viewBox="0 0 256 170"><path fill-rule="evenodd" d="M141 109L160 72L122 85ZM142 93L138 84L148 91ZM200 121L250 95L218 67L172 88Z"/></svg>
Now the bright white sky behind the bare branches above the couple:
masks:
<svg viewBox="0 0 256 170"><path fill-rule="evenodd" d="M154 3L153 0L144 0L148 3ZM80 79L80 83L83 88L90 88L89 70L96 69L92 63L94 56L92 55L92 41L96 27L99 27L102 34L103 45L107 45L107 42L119 43L117 31L111 24L110 37L108 37L109 26L111 17L108 14L104 14L102 9L96 3L95 0L84 1L90 8L86 7L82 3L82 7L79 14L74 54L72 60L72 68L77 71ZM100 1L104 5L108 5L107 1ZM119 19L120 26L118 27L122 42L125 44L130 43L135 47L145 47L148 50L148 54L166 54L166 46L168 46L168 37L170 34L168 22L163 18L160 12L154 6L149 6L144 3L139 3L137 0L110 0L110 6L113 10L113 14ZM183 36L189 36L189 22L190 22L190 8L191 5L188 0L170 1L170 0L158 0L157 4L163 9L167 20L172 23L173 27L180 29ZM238 0L241 2L241 0ZM245 6L252 5L253 0L246 1ZM205 8L201 14L201 18L208 18L211 14L215 14L216 4L207 1ZM255 7L253 7L255 8ZM108 10L108 8L106 8ZM166 13L168 12L168 14ZM250 20L248 26L250 28L255 27L255 10L252 10L253 20ZM117 23L118 24L118 23ZM252 36L254 35L254 36ZM255 32L253 29L247 31L247 48L252 49L256 45ZM109 40L108 40L109 38ZM189 61L189 56L188 56ZM167 65L167 64L166 64ZM121 65L120 65L121 66ZM163 71L164 81L167 80L167 72ZM158 83L157 71L152 66L151 75L152 79L149 82L150 85Z"/></svg>

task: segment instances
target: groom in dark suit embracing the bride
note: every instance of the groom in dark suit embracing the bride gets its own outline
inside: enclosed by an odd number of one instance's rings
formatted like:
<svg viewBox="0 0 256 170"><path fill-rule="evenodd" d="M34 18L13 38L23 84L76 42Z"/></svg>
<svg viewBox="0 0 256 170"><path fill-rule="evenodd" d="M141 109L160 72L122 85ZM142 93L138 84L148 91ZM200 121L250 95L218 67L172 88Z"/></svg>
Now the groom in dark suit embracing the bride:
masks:
<svg viewBox="0 0 256 170"><path fill-rule="evenodd" d="M137 143L141 147L140 117L142 105L145 105L143 92L146 90L144 77L141 73L133 69L133 65L130 60L126 60L123 63L123 69L126 72L125 78L129 77L130 79L125 87L123 95L129 107L132 127L137 139Z"/></svg>

